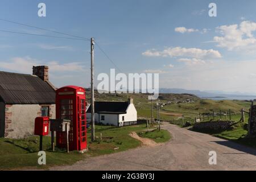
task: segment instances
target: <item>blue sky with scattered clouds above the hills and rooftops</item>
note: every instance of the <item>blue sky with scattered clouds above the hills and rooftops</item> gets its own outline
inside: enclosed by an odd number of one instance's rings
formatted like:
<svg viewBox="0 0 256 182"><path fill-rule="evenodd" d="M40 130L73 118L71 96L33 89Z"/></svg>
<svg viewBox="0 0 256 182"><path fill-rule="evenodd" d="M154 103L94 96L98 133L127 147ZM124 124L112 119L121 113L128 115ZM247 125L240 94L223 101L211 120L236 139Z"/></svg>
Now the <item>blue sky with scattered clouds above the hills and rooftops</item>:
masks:
<svg viewBox="0 0 256 182"><path fill-rule="evenodd" d="M38 16L38 3L47 16ZM208 5L217 5L209 17ZM2 0L0 18L94 37L123 73L160 73L160 87L256 94L256 1ZM0 21L0 30L62 36ZM0 32L1 71L49 65L56 86L89 86L90 43ZM96 76L115 68L96 47ZM256 84L255 84L256 85Z"/></svg>

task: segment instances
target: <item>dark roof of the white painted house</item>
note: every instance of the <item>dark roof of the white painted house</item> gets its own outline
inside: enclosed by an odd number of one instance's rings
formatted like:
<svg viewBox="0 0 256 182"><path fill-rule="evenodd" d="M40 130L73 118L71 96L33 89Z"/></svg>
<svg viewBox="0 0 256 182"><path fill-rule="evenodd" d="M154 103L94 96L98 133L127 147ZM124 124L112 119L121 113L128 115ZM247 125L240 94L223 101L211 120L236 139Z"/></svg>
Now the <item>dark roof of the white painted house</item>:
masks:
<svg viewBox="0 0 256 182"><path fill-rule="evenodd" d="M94 102L94 112L104 114L126 114L128 102L109 102L109 101L96 101ZM91 107L89 106L87 113L90 113Z"/></svg>

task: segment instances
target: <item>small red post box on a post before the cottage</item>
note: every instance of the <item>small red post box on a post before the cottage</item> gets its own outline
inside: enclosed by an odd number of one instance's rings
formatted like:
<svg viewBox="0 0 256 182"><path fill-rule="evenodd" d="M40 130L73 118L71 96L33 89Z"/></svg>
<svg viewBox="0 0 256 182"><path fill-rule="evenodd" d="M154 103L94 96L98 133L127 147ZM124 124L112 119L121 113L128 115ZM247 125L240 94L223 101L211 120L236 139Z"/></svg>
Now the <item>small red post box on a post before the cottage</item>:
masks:
<svg viewBox="0 0 256 182"><path fill-rule="evenodd" d="M46 136L49 134L49 117L35 118L35 135Z"/></svg>

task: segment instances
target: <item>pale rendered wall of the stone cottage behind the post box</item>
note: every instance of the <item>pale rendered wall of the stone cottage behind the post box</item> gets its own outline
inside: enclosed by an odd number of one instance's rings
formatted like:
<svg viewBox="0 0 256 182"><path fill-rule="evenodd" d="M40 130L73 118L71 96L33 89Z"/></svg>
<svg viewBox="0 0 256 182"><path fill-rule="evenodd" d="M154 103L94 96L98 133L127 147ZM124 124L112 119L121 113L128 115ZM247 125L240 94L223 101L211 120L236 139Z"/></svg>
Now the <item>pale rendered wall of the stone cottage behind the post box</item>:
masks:
<svg viewBox="0 0 256 182"><path fill-rule="evenodd" d="M42 106L49 106L49 117L56 118L55 104L52 105L6 105L5 137L26 138L34 135L35 118L42 115Z"/></svg>

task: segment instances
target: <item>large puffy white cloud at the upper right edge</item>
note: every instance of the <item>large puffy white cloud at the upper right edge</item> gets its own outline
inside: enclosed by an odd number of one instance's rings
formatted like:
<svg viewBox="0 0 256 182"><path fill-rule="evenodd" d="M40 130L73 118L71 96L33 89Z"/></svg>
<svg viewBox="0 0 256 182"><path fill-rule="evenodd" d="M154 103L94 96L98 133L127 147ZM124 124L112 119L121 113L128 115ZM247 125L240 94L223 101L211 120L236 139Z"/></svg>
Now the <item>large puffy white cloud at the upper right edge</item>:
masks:
<svg viewBox="0 0 256 182"><path fill-rule="evenodd" d="M216 28L222 36L215 36L214 42L218 47L227 48L229 51L241 49L254 49L256 39L253 32L256 31L256 23L243 21L238 24L224 25Z"/></svg>

